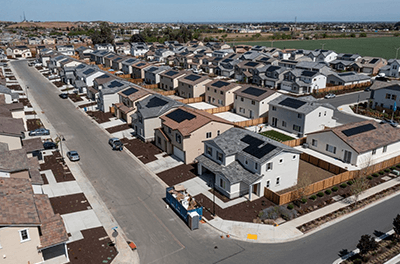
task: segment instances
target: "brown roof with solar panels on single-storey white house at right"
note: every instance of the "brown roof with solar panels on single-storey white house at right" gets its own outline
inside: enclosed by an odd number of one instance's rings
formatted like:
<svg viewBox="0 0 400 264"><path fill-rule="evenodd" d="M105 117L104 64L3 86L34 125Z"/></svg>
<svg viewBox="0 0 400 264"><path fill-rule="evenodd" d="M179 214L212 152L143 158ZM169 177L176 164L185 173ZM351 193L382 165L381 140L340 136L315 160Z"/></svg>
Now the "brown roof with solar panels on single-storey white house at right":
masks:
<svg viewBox="0 0 400 264"><path fill-rule="evenodd" d="M358 153L364 153L400 141L400 129L394 128L390 124L379 124L374 120L350 123L310 134L329 131L332 131Z"/></svg>

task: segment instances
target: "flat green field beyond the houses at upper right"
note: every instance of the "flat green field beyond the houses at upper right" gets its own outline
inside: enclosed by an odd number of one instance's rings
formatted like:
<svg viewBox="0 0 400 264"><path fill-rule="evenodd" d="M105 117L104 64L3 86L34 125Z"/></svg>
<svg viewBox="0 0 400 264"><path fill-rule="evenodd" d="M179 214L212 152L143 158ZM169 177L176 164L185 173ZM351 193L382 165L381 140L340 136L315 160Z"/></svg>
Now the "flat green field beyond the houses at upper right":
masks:
<svg viewBox="0 0 400 264"><path fill-rule="evenodd" d="M232 43L230 43L232 44ZM271 47L271 41L248 41L235 42L235 45L260 45ZM324 49L334 50L337 53L358 53L362 56L382 57L394 59L396 49L400 47L400 37L377 37L377 38L349 38L349 39L321 39L321 40L288 40L274 41L274 47L295 49ZM400 50L399 50L400 56Z"/></svg>

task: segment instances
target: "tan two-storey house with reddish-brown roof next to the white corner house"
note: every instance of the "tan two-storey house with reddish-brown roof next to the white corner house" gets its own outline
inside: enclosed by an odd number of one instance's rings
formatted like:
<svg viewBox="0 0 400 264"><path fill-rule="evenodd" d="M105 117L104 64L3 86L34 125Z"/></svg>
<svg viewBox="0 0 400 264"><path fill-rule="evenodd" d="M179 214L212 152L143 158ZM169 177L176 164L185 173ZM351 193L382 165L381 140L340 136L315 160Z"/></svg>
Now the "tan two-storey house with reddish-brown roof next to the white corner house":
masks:
<svg viewBox="0 0 400 264"><path fill-rule="evenodd" d="M155 144L186 164L203 154L204 140L210 140L233 127L233 124L205 111L182 106L160 117L155 130Z"/></svg>

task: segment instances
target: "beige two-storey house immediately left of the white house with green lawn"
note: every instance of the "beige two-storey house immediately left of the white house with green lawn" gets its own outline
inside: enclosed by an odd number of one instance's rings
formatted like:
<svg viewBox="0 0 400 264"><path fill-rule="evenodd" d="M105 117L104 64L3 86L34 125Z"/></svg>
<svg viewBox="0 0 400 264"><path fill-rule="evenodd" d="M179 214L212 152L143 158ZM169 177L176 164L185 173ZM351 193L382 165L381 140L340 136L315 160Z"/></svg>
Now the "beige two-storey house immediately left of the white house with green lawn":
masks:
<svg viewBox="0 0 400 264"><path fill-rule="evenodd" d="M279 96L279 93L271 89L251 85L246 85L233 93L235 94L234 111L250 119L265 117L268 113L269 102Z"/></svg>

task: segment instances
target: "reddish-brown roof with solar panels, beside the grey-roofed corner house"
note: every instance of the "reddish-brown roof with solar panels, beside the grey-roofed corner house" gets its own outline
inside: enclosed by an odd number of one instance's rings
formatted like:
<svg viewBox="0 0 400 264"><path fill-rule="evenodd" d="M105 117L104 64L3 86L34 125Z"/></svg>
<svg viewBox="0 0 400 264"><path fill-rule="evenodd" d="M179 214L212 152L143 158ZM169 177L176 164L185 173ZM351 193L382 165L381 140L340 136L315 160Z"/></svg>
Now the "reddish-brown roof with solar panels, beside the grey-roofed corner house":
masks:
<svg viewBox="0 0 400 264"><path fill-rule="evenodd" d="M219 122L233 125L231 122L206 111L181 106L176 110L160 117L163 125L178 130L183 136L189 136L193 131L203 127L210 122Z"/></svg>

